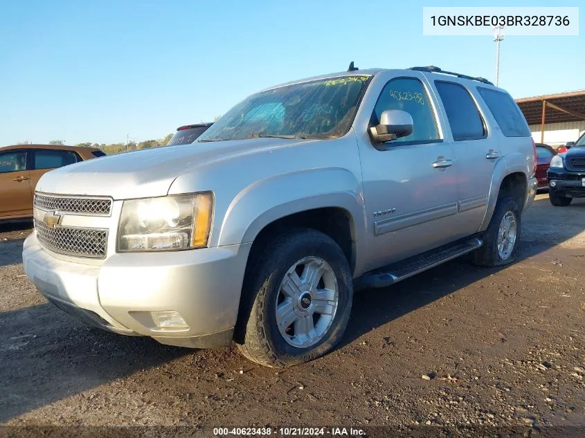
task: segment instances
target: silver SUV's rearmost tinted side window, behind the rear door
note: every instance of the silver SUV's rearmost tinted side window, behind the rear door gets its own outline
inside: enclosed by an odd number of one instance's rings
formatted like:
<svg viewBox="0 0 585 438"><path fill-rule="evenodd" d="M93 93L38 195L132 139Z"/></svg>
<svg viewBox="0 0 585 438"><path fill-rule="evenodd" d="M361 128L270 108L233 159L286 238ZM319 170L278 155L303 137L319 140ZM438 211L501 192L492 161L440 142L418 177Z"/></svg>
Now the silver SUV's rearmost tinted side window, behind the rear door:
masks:
<svg viewBox="0 0 585 438"><path fill-rule="evenodd" d="M478 91L492 111L506 137L530 137L530 129L516 102L509 94L478 86Z"/></svg>

